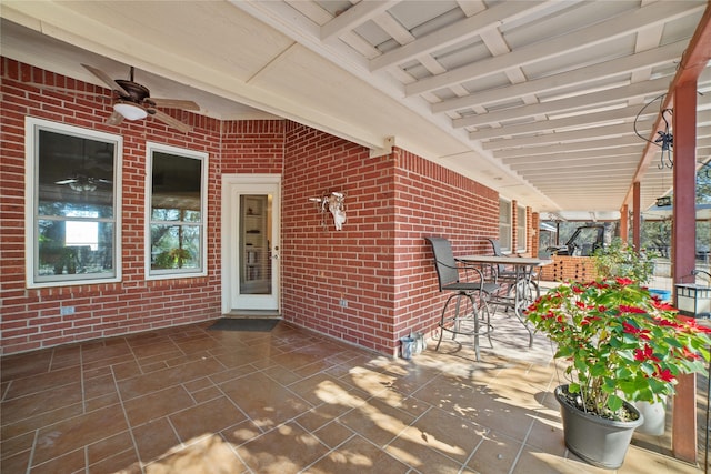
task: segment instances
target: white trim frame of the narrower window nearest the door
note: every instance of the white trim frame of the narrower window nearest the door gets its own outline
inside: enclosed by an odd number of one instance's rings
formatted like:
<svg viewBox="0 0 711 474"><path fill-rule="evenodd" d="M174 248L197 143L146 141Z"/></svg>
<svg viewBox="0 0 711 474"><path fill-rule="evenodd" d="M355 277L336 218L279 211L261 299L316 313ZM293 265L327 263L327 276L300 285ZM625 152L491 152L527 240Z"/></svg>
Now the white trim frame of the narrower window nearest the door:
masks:
<svg viewBox="0 0 711 474"><path fill-rule="evenodd" d="M153 152L162 152L177 154L179 157L193 158L201 160L202 182L200 183L200 215L201 215L201 259L202 268L196 270L171 270L161 271L161 273L151 273L151 189L152 189L152 168ZM146 248L146 280L170 280L170 279L188 279L208 275L208 158L209 154L201 151L188 150L184 148L171 147L163 143L146 142L146 230L144 230L144 248Z"/></svg>

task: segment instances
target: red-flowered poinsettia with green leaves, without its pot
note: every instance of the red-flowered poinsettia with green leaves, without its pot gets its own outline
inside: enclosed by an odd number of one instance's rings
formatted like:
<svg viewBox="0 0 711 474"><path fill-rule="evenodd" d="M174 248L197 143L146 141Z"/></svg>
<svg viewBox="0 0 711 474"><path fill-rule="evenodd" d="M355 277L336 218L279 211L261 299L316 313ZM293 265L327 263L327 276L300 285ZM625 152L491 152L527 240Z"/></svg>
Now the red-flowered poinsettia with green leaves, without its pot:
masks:
<svg viewBox="0 0 711 474"><path fill-rule="evenodd" d="M657 402L678 376L705 370L711 337L630 278L570 282L535 301L528 320L567 360L569 391L617 418L623 400Z"/></svg>

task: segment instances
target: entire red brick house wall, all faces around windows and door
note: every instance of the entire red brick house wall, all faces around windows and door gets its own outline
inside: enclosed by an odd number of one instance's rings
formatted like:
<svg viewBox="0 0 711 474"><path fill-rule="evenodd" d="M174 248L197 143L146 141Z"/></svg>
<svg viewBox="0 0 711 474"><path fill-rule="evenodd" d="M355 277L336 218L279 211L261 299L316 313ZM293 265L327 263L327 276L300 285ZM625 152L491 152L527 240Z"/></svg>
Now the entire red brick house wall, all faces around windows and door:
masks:
<svg viewBox="0 0 711 474"><path fill-rule="evenodd" d="M498 234L497 192L407 151L370 158L361 145L288 121L220 122L179 111L170 113L191 132L151 119L107 125L107 89L7 58L0 68L2 353L219 317L223 173L282 173L284 319L387 354L410 331L434 329L444 302L423 238L447 236L455 253L490 253L483 239ZM26 288L26 115L123 137L122 282ZM204 278L144 280L146 141L209 153ZM342 231L309 201L331 191L346 194ZM63 305L76 313L60 316Z"/></svg>

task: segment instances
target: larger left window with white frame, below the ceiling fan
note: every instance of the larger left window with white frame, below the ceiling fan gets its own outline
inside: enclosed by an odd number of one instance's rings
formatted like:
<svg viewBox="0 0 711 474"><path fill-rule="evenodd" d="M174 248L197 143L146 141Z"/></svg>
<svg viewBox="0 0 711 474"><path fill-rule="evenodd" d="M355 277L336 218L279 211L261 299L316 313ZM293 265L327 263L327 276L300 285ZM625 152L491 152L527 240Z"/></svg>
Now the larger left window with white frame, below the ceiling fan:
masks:
<svg viewBox="0 0 711 474"><path fill-rule="evenodd" d="M28 288L120 281L121 137L24 125Z"/></svg>

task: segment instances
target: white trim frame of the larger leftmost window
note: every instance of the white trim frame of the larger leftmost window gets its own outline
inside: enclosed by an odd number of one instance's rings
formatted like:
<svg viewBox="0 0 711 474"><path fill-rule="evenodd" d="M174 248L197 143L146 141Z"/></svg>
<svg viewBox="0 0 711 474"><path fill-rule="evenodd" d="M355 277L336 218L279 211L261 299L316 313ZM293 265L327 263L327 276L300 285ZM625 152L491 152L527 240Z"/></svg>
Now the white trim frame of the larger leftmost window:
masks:
<svg viewBox="0 0 711 474"><path fill-rule="evenodd" d="M87 138L91 140L100 140L113 142L116 145L116 155L113 162L113 270L114 274L107 278L96 279L71 279L66 281L36 282L34 281L34 263L37 256L37 235L34 234L34 220L37 219L38 191L36 186L36 154L37 143L39 140L38 131L40 129ZM52 122L50 120L38 119L34 117L24 118L24 262L26 262L26 283L27 288L52 288L52 286L71 286L87 284L117 283L121 281L122 261L121 261L121 162L123 151L123 138L111 133L99 132L97 130L83 129L80 127L69 125L66 123Z"/></svg>

